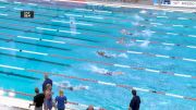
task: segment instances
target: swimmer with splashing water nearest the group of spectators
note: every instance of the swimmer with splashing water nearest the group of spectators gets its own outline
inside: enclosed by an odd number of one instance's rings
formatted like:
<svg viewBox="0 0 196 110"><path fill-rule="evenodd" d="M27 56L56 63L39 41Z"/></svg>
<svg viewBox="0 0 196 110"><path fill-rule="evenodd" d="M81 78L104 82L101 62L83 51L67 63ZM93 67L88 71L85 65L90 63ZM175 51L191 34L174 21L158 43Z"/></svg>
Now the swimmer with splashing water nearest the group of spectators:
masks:
<svg viewBox="0 0 196 110"><path fill-rule="evenodd" d="M57 85L58 87L60 88L63 88L63 89L69 89L69 90L86 90L88 89L88 86L83 86L83 85L78 85L78 86L72 86L70 84L70 82L62 82L60 84L58 83L54 83L54 85Z"/></svg>

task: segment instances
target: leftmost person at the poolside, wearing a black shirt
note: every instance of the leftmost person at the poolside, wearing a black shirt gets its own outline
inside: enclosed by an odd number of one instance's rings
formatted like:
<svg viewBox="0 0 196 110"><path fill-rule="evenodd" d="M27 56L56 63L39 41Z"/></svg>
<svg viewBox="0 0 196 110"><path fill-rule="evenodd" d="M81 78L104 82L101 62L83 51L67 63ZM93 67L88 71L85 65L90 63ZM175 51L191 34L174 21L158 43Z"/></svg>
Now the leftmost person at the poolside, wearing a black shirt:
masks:
<svg viewBox="0 0 196 110"><path fill-rule="evenodd" d="M30 108L30 106L35 106L35 110L42 110L45 95L39 94L39 89L37 87L35 88L35 93L36 93L36 96L34 97L34 102L29 103L29 108Z"/></svg>

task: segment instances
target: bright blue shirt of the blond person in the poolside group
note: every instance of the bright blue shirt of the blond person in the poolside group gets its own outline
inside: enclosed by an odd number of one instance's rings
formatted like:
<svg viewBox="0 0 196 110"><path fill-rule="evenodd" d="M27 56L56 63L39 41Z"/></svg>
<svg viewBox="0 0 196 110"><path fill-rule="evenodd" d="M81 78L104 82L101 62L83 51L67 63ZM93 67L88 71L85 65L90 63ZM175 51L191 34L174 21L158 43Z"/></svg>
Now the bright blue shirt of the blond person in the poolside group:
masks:
<svg viewBox="0 0 196 110"><path fill-rule="evenodd" d="M66 101L66 97L65 96L57 96L56 97L56 102L58 102L58 109L65 109L64 102Z"/></svg>

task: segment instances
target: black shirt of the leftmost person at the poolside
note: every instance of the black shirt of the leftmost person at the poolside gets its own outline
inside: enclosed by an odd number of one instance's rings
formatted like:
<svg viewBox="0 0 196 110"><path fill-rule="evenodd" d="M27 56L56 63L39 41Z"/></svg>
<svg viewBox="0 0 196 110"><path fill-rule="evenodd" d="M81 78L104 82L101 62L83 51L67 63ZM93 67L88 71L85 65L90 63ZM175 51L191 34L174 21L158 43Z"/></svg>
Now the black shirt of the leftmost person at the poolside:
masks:
<svg viewBox="0 0 196 110"><path fill-rule="evenodd" d="M41 107L45 100L44 94L38 94L34 97L34 102L36 103L36 107Z"/></svg>

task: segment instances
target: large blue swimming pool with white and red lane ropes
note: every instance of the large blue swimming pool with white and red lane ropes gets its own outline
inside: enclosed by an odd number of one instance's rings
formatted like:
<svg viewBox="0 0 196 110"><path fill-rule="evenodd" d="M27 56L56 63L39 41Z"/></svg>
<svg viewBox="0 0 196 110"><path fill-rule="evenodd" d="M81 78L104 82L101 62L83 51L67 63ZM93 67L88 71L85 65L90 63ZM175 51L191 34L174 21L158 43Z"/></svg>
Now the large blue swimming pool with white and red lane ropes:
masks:
<svg viewBox="0 0 196 110"><path fill-rule="evenodd" d="M195 13L57 5L0 1L1 89L34 94L47 72L57 84L88 86L65 90L84 105L125 110L135 88L142 110L196 109ZM35 11L35 19L21 19L21 10ZM106 71L123 74L99 74ZM58 90L54 85L54 96Z"/></svg>

